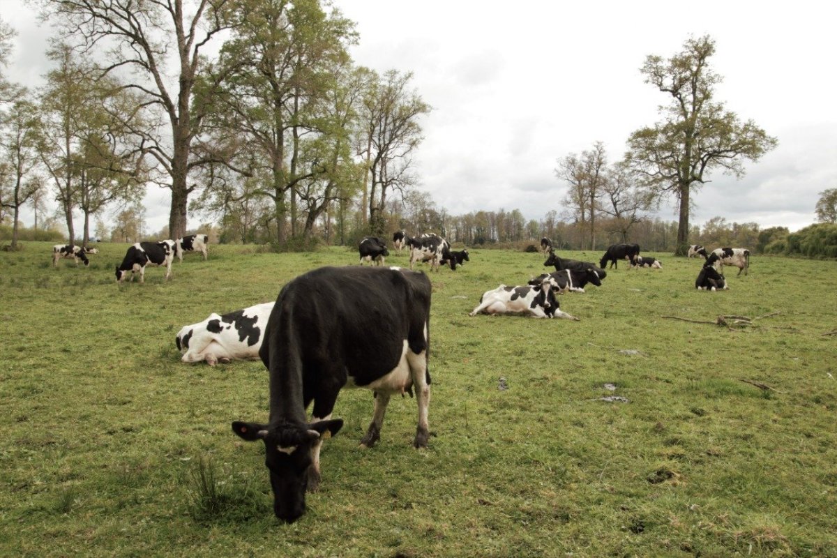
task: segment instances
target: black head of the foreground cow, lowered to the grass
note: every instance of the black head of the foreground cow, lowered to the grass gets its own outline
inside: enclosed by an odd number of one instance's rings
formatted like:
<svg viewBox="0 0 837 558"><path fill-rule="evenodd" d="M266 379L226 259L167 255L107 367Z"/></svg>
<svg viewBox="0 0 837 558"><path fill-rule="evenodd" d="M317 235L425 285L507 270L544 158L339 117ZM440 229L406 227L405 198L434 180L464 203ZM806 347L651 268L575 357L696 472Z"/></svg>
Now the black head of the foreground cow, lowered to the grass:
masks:
<svg viewBox="0 0 837 558"><path fill-rule="evenodd" d="M314 463L311 449L321 439L338 433L342 426L341 418L311 424L233 422L233 432L239 438L264 441L264 464L270 471L277 518L293 523L306 513L308 473Z"/></svg>

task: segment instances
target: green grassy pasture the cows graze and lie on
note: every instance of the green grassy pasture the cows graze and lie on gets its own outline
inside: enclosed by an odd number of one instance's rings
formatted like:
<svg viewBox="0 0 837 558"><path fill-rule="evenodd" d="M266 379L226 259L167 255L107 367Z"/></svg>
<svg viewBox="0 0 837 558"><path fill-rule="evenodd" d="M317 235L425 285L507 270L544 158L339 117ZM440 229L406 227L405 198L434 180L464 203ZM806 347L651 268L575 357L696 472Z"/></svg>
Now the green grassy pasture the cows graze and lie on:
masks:
<svg viewBox="0 0 837 558"><path fill-rule="evenodd" d="M211 246L168 283L151 268L117 286L126 245L89 269L53 269L50 249L0 253L0 555L837 556L835 262L754 256L706 293L699 260L654 253L664 269L620 264L559 297L573 322L469 317L545 270L471 250L431 274L429 448L411 447L408 397L358 448L372 396L343 392L321 490L284 525L264 446L229 427L266 420L264 367L183 364L174 335L357 253Z"/></svg>

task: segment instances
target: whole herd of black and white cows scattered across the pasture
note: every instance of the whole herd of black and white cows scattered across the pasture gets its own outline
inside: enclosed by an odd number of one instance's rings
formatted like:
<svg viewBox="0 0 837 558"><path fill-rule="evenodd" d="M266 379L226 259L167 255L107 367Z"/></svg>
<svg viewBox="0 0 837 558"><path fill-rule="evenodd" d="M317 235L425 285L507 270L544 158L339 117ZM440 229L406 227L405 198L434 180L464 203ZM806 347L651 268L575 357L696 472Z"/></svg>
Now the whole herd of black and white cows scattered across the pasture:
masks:
<svg viewBox="0 0 837 558"><path fill-rule="evenodd" d="M171 274L172 259L182 253L198 251L207 258L205 235L136 243L128 248L116 279L122 281L139 274L143 281L146 265L165 265ZM360 263L323 267L301 274L285 284L275 302L250 306L229 314L211 314L207 319L186 325L175 342L184 362L218 362L259 358L270 377L269 422L232 423L233 432L246 441L264 442L265 465L270 472L274 494L274 513L292 523L306 511L306 492L320 483L320 450L323 440L336 434L343 421L332 418L338 393L344 387L364 387L373 392L374 409L361 445L371 448L380 438L383 417L393 395L409 393L419 407L418 426L413 445L427 446L430 400L429 315L432 284L429 275L413 271L419 262L429 263L439 272L441 266L455 270L470 261L467 249L450 249L447 240L436 234L409 237L393 235L393 248L409 250L409 269L387 267L387 243L381 238L363 238L358 244ZM541 274L526 284L485 291L480 304L470 312L477 314L516 314L538 318L578 320L559 308L557 294L583 293L588 284L601 286L606 267L629 262L629 269L662 269L655 258L644 257L637 244L614 244L598 265L563 259L542 238L541 251L547 255L545 267L555 271ZM60 258L90 264L86 254L95 248L54 247L54 264ZM702 246L691 246L689 256L705 259L696 279L697 289L727 289L721 273L724 265L736 266L740 275L748 272L750 253L744 248L717 248L711 253ZM311 296L316 293L316 296ZM369 358L375 355L375 358ZM312 405L313 404L313 405ZM307 409L311 407L311 419Z"/></svg>

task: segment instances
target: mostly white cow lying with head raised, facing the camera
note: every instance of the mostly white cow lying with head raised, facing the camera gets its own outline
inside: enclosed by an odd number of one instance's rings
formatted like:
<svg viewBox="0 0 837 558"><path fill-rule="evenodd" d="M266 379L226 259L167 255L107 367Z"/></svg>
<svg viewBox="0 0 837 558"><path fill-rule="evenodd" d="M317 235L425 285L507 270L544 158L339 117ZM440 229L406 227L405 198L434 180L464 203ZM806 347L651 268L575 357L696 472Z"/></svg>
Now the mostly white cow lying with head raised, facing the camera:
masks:
<svg viewBox="0 0 837 558"><path fill-rule="evenodd" d="M578 318L562 311L552 289L552 281L548 274L540 284L525 284L507 287L501 284L494 290L486 290L480 296L480 304L470 312L477 314L512 314L534 316L536 318Z"/></svg>

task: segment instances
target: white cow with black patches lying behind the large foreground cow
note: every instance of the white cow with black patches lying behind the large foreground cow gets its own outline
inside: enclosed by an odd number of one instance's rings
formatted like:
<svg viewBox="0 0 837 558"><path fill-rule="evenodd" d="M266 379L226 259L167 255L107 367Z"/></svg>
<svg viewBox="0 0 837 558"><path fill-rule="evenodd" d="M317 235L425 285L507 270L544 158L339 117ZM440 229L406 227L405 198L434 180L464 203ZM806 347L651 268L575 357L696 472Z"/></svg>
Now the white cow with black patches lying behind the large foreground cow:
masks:
<svg viewBox="0 0 837 558"><path fill-rule="evenodd" d="M259 358L264 327L273 302L250 306L229 314L210 314L198 324L185 325L177 333L177 350L183 362L218 362Z"/></svg>

